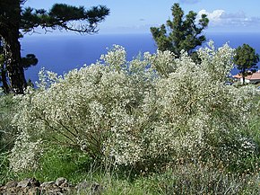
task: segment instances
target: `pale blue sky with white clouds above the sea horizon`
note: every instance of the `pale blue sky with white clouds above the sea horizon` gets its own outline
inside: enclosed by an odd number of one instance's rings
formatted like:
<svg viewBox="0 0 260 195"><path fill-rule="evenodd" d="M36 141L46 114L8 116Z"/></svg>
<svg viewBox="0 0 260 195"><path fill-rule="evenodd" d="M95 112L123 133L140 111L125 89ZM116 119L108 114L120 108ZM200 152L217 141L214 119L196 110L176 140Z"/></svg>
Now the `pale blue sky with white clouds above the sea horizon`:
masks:
<svg viewBox="0 0 260 195"><path fill-rule="evenodd" d="M172 19L170 8L180 4L185 13L206 13L208 32L260 32L259 0L28 0L24 6L51 8L52 4L106 5L110 14L99 25L99 33L150 33ZM58 33L58 32L56 32Z"/></svg>

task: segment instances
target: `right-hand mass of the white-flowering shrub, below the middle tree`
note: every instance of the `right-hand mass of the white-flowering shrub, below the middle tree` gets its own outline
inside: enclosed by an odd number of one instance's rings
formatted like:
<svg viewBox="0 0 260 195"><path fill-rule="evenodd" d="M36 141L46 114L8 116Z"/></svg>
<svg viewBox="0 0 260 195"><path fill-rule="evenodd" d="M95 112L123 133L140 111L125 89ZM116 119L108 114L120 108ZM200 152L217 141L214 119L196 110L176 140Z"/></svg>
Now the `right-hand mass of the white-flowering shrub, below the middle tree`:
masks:
<svg viewBox="0 0 260 195"><path fill-rule="evenodd" d="M160 120L149 135L153 157L213 155L230 163L255 151L254 143L240 137L254 106L250 101L254 89L224 85L232 53L228 45L216 50L210 42L199 50L200 65L184 53L175 60L176 71L155 84ZM250 148L244 147L245 142L251 143Z"/></svg>

